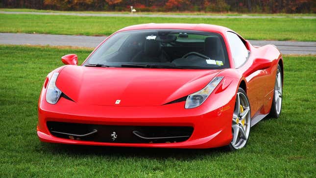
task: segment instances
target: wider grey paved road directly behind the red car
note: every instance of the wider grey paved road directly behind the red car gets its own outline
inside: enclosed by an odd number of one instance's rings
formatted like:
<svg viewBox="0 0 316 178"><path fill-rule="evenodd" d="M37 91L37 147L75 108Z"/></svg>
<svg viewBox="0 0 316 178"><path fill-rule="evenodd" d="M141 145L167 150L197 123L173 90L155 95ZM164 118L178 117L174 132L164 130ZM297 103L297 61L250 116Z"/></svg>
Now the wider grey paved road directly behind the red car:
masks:
<svg viewBox="0 0 316 178"><path fill-rule="evenodd" d="M95 48L105 36L48 35L26 33L0 33L0 44L10 45L50 45ZM283 54L316 54L316 42L257 41L252 45L274 44Z"/></svg>

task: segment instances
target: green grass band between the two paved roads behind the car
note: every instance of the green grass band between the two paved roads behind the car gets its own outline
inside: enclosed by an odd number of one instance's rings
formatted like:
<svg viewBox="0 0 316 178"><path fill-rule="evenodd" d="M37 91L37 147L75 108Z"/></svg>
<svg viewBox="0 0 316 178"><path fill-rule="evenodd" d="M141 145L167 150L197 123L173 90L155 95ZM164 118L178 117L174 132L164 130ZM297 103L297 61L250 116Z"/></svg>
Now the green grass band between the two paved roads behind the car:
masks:
<svg viewBox="0 0 316 178"><path fill-rule="evenodd" d="M205 19L0 14L0 32L13 33L110 35L122 27L145 23L214 24L227 26L250 40L316 41L316 19Z"/></svg>

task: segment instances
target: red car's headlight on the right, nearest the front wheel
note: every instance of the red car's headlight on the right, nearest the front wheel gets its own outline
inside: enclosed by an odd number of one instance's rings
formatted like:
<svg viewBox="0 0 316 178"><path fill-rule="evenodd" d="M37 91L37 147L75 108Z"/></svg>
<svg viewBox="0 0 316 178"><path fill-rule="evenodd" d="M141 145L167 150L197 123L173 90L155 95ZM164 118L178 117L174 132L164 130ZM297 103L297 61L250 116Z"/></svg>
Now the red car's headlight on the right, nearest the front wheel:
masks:
<svg viewBox="0 0 316 178"><path fill-rule="evenodd" d="M191 94L188 96L187 101L185 103L185 108L190 109L197 107L201 105L207 97L211 95L213 90L216 88L216 86L219 84L219 82L223 79L222 76L217 76L213 78L210 83L206 85L202 90L195 92L194 94Z"/></svg>

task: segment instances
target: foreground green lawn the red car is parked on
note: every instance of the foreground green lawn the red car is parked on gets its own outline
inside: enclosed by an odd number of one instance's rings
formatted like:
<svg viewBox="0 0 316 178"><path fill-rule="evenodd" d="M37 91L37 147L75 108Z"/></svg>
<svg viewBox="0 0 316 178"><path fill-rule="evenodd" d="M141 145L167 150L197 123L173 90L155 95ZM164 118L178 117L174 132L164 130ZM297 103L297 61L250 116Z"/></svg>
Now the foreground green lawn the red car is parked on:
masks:
<svg viewBox="0 0 316 178"><path fill-rule="evenodd" d="M41 143L37 100L60 56L89 50L0 46L0 177L316 177L316 56L285 56L279 119L252 127L243 150Z"/></svg>

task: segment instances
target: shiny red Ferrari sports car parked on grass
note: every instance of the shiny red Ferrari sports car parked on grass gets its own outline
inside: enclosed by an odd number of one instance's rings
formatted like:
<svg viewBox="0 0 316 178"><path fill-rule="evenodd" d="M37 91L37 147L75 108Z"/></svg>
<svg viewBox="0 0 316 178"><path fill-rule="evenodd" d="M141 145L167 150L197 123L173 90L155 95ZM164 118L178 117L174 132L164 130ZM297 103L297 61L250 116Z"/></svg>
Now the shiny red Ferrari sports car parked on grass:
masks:
<svg viewBox="0 0 316 178"><path fill-rule="evenodd" d="M223 26L128 26L82 65L75 54L62 61L38 102L44 142L237 150L251 126L281 113L280 51Z"/></svg>

